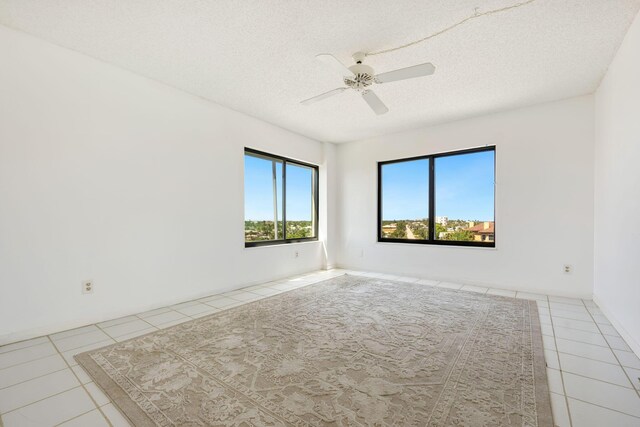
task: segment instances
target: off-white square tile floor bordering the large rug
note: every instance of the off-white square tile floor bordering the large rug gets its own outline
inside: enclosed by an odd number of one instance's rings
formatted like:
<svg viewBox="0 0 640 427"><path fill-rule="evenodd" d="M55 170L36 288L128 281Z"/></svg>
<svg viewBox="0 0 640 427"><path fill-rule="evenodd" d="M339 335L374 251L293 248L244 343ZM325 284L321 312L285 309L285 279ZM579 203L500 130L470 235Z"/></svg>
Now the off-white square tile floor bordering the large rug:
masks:
<svg viewBox="0 0 640 427"><path fill-rule="evenodd" d="M536 300L555 424L640 426L640 360L592 301L347 270L318 271L0 347L0 426L127 426L74 354L344 273Z"/></svg>

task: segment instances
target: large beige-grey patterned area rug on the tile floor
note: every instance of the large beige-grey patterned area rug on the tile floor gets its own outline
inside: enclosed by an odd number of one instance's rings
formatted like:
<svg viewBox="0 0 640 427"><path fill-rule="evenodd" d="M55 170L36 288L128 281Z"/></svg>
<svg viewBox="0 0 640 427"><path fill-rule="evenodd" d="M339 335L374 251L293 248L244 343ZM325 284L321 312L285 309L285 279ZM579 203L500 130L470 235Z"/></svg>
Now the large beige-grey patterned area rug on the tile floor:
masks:
<svg viewBox="0 0 640 427"><path fill-rule="evenodd" d="M76 356L135 426L551 426L534 301L340 276Z"/></svg>

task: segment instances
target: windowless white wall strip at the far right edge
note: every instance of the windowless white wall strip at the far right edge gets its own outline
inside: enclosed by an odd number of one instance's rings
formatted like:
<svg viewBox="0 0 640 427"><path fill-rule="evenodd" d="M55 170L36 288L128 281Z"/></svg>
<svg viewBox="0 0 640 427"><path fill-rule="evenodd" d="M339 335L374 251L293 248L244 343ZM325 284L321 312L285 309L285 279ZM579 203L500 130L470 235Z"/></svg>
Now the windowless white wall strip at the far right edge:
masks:
<svg viewBox="0 0 640 427"><path fill-rule="evenodd" d="M640 355L640 17L596 92L594 299Z"/></svg>

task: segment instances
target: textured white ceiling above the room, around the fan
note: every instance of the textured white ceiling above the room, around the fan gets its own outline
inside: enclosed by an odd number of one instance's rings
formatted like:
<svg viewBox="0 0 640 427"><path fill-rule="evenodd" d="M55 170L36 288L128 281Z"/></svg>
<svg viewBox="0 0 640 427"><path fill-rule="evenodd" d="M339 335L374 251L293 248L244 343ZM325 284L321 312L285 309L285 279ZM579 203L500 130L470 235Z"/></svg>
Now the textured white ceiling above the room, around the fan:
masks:
<svg viewBox="0 0 640 427"><path fill-rule="evenodd" d="M593 92L640 0L537 0L402 51L376 72L436 74L376 86L376 116L316 61L403 44L521 0L0 0L0 23L312 138L344 142Z"/></svg>

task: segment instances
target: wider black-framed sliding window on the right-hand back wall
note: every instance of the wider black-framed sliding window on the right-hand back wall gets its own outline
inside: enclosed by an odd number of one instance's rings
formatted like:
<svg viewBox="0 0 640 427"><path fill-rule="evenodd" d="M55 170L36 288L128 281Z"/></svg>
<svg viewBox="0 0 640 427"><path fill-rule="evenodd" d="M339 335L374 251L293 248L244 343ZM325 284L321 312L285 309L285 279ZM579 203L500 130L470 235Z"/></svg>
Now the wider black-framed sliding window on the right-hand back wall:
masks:
<svg viewBox="0 0 640 427"><path fill-rule="evenodd" d="M378 241L495 246L495 147L378 163Z"/></svg>

